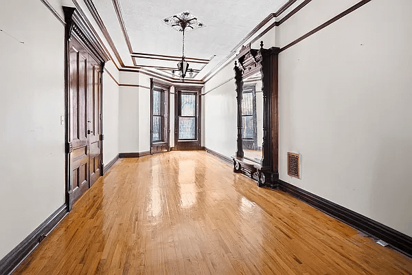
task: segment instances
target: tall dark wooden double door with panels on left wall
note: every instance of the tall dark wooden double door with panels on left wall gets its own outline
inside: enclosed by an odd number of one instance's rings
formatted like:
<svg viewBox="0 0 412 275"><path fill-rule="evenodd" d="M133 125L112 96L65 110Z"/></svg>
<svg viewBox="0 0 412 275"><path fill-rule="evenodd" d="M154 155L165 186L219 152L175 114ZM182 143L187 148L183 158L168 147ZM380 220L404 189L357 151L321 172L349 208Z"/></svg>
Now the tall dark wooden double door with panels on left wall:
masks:
<svg viewBox="0 0 412 275"><path fill-rule="evenodd" d="M76 39L69 42L69 197L74 203L102 174L102 66Z"/></svg>

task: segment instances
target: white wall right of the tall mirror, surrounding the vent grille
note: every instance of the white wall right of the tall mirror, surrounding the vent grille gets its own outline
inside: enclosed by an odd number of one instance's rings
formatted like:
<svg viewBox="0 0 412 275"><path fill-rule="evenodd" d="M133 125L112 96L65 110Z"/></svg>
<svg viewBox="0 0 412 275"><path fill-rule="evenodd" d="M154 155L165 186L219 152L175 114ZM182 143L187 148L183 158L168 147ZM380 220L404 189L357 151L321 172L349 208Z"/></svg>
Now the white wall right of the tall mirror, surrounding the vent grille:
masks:
<svg viewBox="0 0 412 275"><path fill-rule="evenodd" d="M410 10L371 1L279 55L279 177L412 236ZM312 1L279 41L341 11ZM301 154L301 179L287 175L288 151Z"/></svg>

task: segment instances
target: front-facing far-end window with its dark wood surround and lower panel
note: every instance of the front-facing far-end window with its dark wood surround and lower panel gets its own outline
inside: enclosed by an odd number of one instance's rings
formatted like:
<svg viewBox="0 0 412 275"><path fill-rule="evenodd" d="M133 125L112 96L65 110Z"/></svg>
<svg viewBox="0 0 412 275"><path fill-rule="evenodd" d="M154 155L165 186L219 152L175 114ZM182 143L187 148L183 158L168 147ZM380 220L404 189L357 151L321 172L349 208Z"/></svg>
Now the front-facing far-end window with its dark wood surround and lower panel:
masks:
<svg viewBox="0 0 412 275"><path fill-rule="evenodd" d="M175 87L174 146L176 150L201 149L201 88Z"/></svg>

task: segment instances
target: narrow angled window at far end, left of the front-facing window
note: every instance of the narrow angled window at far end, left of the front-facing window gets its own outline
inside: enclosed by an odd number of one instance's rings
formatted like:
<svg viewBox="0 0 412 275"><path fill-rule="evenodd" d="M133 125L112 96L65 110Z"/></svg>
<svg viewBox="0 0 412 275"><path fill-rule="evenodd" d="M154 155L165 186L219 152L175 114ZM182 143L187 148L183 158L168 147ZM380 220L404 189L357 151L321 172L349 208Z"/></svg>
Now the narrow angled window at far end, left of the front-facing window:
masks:
<svg viewBox="0 0 412 275"><path fill-rule="evenodd" d="M152 142L163 141L163 90L153 89Z"/></svg>

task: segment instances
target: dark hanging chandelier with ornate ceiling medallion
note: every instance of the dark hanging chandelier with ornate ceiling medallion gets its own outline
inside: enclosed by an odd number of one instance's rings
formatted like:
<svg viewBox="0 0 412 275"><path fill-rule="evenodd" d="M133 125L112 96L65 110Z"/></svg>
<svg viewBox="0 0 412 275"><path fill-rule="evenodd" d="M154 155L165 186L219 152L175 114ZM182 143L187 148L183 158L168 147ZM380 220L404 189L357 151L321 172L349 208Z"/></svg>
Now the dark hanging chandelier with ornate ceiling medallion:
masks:
<svg viewBox="0 0 412 275"><path fill-rule="evenodd" d="M179 77L185 78L187 72L189 72L190 78L193 77L193 69L189 69L189 63L185 61L185 31L196 30L202 28L205 25L201 21L198 21L196 17L190 12L181 12L180 14L174 14L171 17L163 19L163 22L174 28L178 32L182 32L182 59L177 63L177 69L179 71ZM174 71L172 71L174 77Z"/></svg>

